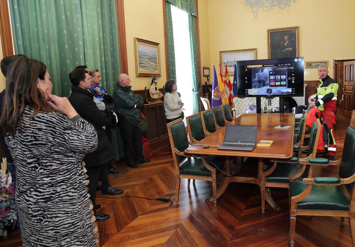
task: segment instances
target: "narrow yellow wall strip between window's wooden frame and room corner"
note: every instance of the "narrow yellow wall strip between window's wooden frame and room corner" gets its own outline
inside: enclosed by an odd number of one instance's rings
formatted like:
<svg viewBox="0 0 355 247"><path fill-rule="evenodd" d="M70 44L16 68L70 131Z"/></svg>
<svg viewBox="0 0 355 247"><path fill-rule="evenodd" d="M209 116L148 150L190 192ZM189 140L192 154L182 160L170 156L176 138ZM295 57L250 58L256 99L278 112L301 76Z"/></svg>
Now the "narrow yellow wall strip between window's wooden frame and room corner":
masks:
<svg viewBox="0 0 355 247"><path fill-rule="evenodd" d="M208 25L208 0L198 0L198 27L200 29L200 50L201 50L201 81L202 85L207 81L207 77L203 77L203 67L209 68L209 75L211 77L212 84L212 65L210 44L209 44L209 25Z"/></svg>

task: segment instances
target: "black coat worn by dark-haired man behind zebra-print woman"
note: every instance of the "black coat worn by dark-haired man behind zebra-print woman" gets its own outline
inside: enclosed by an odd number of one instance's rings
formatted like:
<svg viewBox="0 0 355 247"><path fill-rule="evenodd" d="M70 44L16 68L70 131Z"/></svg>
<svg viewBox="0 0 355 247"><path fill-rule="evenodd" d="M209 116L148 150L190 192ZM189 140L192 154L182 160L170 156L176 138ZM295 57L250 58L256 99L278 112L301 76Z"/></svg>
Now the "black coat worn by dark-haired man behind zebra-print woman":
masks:
<svg viewBox="0 0 355 247"><path fill-rule="evenodd" d="M108 124L106 113L99 110L93 101L93 94L81 87L72 86L69 101L77 113L95 127L99 140L98 148L84 157L88 166L106 164L113 159L111 145L103 126Z"/></svg>

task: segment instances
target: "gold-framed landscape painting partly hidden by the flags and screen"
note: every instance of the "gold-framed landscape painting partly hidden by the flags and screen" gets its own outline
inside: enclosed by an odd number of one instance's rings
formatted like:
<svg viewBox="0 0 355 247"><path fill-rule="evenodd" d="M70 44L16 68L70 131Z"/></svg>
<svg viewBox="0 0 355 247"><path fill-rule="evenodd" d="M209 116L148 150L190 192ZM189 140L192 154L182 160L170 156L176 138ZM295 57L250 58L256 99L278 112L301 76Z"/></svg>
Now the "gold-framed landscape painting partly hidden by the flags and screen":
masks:
<svg viewBox="0 0 355 247"><path fill-rule="evenodd" d="M224 76L224 61L227 63L227 70L229 76L234 75L234 62L245 61L245 60L255 60L256 59L256 48L255 49L245 49L245 50L234 50L234 51L220 51L219 52L221 67L223 65L222 74Z"/></svg>

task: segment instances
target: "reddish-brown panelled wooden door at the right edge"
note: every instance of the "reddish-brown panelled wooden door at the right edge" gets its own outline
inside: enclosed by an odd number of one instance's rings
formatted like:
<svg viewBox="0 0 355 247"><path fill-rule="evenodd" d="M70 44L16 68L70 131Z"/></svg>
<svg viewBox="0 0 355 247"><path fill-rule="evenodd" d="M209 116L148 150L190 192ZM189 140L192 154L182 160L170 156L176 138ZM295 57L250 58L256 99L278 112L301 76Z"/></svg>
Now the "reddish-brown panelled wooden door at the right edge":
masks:
<svg viewBox="0 0 355 247"><path fill-rule="evenodd" d="M344 62L344 116L351 117L354 110L354 65L355 61Z"/></svg>

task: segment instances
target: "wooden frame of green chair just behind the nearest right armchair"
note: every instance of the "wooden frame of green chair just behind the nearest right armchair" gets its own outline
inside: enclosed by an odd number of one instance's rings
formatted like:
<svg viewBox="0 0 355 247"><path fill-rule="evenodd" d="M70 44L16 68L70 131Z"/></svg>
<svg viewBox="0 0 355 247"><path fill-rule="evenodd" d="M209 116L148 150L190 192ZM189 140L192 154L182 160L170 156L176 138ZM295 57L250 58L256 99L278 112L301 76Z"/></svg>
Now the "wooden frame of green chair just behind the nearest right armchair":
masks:
<svg viewBox="0 0 355 247"><path fill-rule="evenodd" d="M305 121L306 121L306 119L305 119ZM316 157L317 144L318 144L318 140L319 140L319 136L320 136L320 132L321 132L321 122L319 121L319 119L317 119L317 125L318 125L317 134L316 134L315 144L314 144L312 153L310 155L308 155L307 157L301 158L302 150L307 150L308 145L301 146L301 149L298 152L299 161L297 163L302 165L302 168L297 173L290 175L290 181L293 181L293 180L299 178L306 170L306 166L308 165L307 161L311 158ZM306 122L304 124L303 131L305 131L305 128L306 128L305 126L306 126ZM289 188L289 183L285 184L285 183L266 182L266 177L275 171L277 163L287 163L287 162L283 162L282 160L271 160L271 162L274 162L273 166L268 171L263 172L261 175L261 212L262 213L264 213L264 211L265 211L266 187ZM313 167L310 166L310 169L308 171L308 178L311 178L312 174L313 174Z"/></svg>

